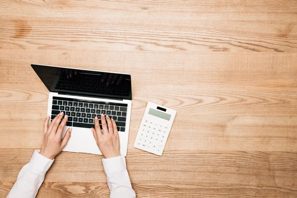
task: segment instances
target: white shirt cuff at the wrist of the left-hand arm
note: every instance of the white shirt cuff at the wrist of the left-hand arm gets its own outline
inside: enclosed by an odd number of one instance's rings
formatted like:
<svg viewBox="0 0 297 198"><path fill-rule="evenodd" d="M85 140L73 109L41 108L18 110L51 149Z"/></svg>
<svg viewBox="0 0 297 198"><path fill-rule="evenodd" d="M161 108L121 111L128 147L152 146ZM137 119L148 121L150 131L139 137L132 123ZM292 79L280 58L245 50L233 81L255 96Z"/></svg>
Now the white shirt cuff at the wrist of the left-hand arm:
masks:
<svg viewBox="0 0 297 198"><path fill-rule="evenodd" d="M49 159L39 154L39 152L40 150L35 150L30 159L31 171L39 175L44 175L49 170L54 159Z"/></svg>

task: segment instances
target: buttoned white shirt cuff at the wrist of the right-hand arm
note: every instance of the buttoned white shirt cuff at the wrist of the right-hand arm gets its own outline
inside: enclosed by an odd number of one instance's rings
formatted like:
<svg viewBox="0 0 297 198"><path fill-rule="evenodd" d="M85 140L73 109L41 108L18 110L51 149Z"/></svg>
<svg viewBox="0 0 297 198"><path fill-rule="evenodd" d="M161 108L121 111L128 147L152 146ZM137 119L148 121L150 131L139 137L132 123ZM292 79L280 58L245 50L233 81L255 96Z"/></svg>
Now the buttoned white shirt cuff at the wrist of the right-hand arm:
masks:
<svg viewBox="0 0 297 198"><path fill-rule="evenodd" d="M126 170L126 160L123 155L102 159L102 163L107 176L115 172Z"/></svg>

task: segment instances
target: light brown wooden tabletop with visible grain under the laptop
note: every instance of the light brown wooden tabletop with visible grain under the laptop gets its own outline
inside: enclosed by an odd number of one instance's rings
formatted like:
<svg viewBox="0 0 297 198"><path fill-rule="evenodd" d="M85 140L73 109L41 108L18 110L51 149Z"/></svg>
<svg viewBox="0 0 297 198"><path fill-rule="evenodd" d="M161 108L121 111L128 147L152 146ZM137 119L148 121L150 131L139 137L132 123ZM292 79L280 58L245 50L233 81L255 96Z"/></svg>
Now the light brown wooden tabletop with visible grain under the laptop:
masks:
<svg viewBox="0 0 297 198"><path fill-rule="evenodd" d="M296 0L1 0L0 197L42 143L31 63L132 75L137 197L297 197ZM161 157L133 148L148 101L177 110ZM37 198L109 197L101 158L61 152Z"/></svg>

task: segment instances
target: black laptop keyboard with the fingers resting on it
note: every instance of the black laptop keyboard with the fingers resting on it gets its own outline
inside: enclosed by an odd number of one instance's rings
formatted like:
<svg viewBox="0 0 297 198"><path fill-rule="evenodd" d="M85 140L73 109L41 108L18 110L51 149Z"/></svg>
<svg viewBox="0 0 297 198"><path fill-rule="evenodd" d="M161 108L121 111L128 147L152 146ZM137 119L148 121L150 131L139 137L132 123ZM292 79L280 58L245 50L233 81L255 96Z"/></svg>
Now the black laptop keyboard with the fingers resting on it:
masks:
<svg viewBox="0 0 297 198"><path fill-rule="evenodd" d="M103 113L115 120L118 131L125 132L127 104L61 97L52 99L51 120L63 111L64 115L68 115L66 126L91 128L95 127L94 118L97 116L102 129L101 113Z"/></svg>

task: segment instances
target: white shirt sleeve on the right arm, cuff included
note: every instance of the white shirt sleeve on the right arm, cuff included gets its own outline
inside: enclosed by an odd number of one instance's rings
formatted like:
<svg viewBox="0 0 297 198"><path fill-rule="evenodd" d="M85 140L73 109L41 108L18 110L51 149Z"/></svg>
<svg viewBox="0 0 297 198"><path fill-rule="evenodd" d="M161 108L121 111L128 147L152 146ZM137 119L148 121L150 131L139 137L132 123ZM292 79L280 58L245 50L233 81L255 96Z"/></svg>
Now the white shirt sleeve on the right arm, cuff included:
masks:
<svg viewBox="0 0 297 198"><path fill-rule="evenodd" d="M102 159L110 198L135 198L123 155Z"/></svg>

